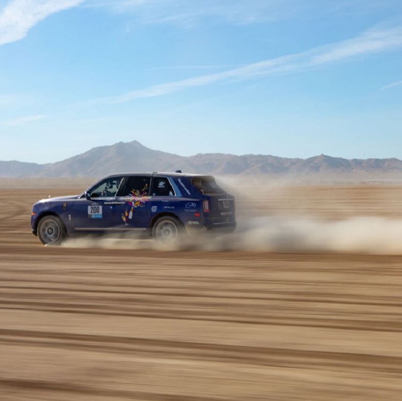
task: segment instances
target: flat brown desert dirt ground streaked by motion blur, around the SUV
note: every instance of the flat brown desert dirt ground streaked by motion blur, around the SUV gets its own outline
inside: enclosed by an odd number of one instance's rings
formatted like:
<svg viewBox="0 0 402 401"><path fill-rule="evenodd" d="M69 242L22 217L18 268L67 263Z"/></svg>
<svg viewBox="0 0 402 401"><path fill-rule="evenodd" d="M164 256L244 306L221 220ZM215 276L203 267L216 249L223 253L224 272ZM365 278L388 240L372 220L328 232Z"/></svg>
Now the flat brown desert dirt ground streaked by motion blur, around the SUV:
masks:
<svg viewBox="0 0 402 401"><path fill-rule="evenodd" d="M402 399L402 186L229 183L240 223L357 216L393 255L44 247L32 203L87 184L2 182L1 401Z"/></svg>

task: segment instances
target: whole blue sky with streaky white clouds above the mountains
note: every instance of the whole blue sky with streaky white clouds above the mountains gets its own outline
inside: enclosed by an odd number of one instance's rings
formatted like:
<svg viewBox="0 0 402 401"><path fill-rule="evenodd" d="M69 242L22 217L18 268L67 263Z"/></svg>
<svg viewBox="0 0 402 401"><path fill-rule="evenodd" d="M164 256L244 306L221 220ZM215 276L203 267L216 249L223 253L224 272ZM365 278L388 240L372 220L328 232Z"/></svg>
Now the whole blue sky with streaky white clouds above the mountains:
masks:
<svg viewBox="0 0 402 401"><path fill-rule="evenodd" d="M0 137L402 159L402 1L0 0Z"/></svg>

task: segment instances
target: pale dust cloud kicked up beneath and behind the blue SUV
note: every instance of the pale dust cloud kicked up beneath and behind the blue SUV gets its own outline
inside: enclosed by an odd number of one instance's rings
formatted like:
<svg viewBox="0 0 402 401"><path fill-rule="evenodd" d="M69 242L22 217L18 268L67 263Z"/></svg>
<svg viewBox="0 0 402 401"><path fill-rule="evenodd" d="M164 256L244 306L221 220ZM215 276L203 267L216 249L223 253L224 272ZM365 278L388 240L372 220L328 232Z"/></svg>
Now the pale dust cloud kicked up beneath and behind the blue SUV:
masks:
<svg viewBox="0 0 402 401"><path fill-rule="evenodd" d="M68 239L63 246L154 251L402 255L402 220L356 217L323 222L263 217L240 220L233 234L191 236L173 245L127 237L79 237Z"/></svg>

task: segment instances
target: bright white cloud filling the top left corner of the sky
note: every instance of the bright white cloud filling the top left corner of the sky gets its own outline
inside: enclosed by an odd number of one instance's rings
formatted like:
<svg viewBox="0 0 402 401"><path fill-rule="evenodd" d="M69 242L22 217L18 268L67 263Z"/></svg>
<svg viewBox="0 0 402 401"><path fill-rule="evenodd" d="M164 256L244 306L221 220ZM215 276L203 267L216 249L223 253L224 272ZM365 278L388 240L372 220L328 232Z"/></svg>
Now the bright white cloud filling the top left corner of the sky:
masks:
<svg viewBox="0 0 402 401"><path fill-rule="evenodd" d="M10 0L0 9L0 45L23 39L28 30L49 15L85 0Z"/></svg>

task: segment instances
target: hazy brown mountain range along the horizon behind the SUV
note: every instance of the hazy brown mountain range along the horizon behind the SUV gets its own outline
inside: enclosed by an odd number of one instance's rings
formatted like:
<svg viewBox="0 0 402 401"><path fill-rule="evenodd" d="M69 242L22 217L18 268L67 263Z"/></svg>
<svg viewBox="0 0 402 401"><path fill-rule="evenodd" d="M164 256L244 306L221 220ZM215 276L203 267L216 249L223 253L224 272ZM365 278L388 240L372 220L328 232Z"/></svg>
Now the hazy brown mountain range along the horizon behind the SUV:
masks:
<svg viewBox="0 0 402 401"><path fill-rule="evenodd" d="M61 162L38 165L0 162L0 177L102 177L119 172L175 171L202 174L401 176L399 159L342 159L326 155L288 159L270 155L223 153L179 156L149 149L138 141L95 147Z"/></svg>

